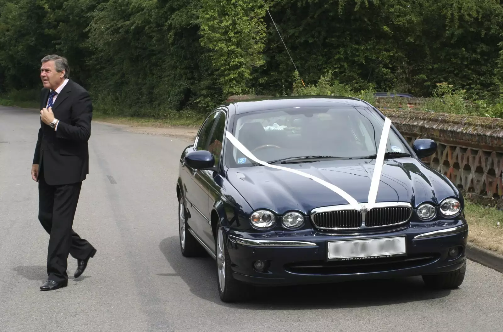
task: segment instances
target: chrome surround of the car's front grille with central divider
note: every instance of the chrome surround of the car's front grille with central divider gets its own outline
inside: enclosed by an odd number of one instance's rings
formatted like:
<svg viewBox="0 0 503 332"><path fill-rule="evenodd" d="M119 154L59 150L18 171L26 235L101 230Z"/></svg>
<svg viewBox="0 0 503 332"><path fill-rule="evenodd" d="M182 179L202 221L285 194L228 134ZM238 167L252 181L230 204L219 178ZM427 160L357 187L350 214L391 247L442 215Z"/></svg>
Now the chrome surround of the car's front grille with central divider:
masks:
<svg viewBox="0 0 503 332"><path fill-rule="evenodd" d="M365 225L365 219L366 219L365 217L366 217L367 212L369 210L366 210L366 207L367 207L366 203L360 203L360 206L361 206L360 213L362 214L362 226L360 226L360 227L351 227L351 228L333 227L333 228L329 228L329 227L318 227L318 226L316 226L316 224L315 224L315 227L317 229L330 229L330 230L355 230L355 229L365 229L365 228L382 228L382 227L390 227L390 226L397 226L397 225L405 224L406 222L408 222L410 220L410 218L412 218L413 211L412 211L412 205L410 203L407 203L407 202L379 202L379 203L375 203L374 207L372 209L374 209L374 208L408 208L410 211L410 214L405 221L402 221L399 223L383 225L383 226L366 226ZM344 211L344 210L356 211L355 209L353 209L353 207L350 204L333 205L333 206L328 206L328 207L315 208L315 209L311 210L311 214L310 214L311 221L314 224L314 215L316 215L318 213Z"/></svg>

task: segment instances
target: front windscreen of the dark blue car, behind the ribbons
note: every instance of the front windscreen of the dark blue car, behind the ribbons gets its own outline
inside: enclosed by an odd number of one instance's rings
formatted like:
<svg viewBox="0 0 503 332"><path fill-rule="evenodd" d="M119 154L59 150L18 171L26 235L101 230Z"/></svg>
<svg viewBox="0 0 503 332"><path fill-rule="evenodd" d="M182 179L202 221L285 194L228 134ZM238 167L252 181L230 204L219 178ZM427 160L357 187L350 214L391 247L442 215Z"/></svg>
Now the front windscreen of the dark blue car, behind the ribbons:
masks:
<svg viewBox="0 0 503 332"><path fill-rule="evenodd" d="M232 135L266 162L296 162L297 157L309 156L313 158L300 160L333 160L377 154L383 125L384 119L368 107L299 107L236 115ZM255 164L236 147L230 147L229 167ZM391 129L386 152L409 153Z"/></svg>

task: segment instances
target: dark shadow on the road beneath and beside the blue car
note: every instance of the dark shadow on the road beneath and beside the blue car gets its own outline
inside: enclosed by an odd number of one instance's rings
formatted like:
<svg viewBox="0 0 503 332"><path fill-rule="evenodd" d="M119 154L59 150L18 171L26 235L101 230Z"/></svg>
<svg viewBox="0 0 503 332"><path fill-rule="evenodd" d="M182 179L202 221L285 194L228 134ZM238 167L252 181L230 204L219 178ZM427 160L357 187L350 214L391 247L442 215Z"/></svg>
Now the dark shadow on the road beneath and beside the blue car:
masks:
<svg viewBox="0 0 503 332"><path fill-rule="evenodd" d="M449 290L429 290L420 277L414 277L308 286L256 287L245 302L227 304L218 297L215 261L209 255L197 258L182 256L178 236L165 238L160 242L159 248L176 275L183 279L194 295L227 307L253 310L371 307L438 299L451 293Z"/></svg>

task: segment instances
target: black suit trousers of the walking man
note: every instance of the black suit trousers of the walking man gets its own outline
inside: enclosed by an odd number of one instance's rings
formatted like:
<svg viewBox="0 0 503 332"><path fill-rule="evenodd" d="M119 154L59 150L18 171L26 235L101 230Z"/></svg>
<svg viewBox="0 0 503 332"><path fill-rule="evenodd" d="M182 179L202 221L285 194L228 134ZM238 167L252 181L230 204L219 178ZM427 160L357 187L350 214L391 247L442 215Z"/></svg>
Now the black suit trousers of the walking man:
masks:
<svg viewBox="0 0 503 332"><path fill-rule="evenodd" d="M38 179L38 219L49 233L48 279L60 282L68 279L68 254L76 259L86 259L96 252L72 229L82 182L52 186L45 182L42 169Z"/></svg>

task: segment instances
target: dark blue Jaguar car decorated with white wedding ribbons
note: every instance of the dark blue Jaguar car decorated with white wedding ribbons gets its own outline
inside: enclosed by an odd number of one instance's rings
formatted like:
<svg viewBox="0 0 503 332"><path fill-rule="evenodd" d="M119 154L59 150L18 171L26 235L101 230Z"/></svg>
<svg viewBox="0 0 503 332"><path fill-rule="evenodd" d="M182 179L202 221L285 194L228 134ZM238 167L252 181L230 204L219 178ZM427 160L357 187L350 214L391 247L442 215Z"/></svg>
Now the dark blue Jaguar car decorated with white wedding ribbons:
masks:
<svg viewBox="0 0 503 332"><path fill-rule="evenodd" d="M388 123L388 124L386 124ZM222 301L250 285L465 275L463 196L369 103L245 100L213 110L180 158L184 256L216 261Z"/></svg>

